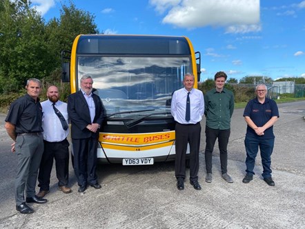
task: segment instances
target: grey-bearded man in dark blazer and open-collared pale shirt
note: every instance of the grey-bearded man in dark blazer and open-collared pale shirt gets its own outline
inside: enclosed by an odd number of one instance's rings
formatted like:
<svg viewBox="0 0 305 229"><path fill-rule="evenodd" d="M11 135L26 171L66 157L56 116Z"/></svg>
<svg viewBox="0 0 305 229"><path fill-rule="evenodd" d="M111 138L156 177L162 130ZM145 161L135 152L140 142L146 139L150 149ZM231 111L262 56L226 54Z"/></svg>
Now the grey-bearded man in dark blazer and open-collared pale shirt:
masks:
<svg viewBox="0 0 305 229"><path fill-rule="evenodd" d="M104 118L104 106L97 94L92 93L93 79L86 74L81 77L81 90L68 97L68 116L71 121L71 137L74 153L74 170L79 192L88 184L101 188L97 181L97 144L99 128Z"/></svg>

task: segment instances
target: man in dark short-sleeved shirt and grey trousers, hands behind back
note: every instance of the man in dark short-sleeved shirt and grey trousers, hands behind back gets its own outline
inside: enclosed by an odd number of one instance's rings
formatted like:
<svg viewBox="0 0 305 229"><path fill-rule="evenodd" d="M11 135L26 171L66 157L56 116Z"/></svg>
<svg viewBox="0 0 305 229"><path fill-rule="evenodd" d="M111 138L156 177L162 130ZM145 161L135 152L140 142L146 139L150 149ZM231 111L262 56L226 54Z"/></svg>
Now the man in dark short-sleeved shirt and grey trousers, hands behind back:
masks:
<svg viewBox="0 0 305 229"><path fill-rule="evenodd" d="M16 210L22 214L34 212L26 203L46 203L35 194L38 169L43 153L43 131L41 127L43 112L39 103L41 82L28 79L27 94L10 105L6 117L6 131L14 140L12 152L16 152L18 167L15 181ZM24 191L26 189L26 200Z"/></svg>

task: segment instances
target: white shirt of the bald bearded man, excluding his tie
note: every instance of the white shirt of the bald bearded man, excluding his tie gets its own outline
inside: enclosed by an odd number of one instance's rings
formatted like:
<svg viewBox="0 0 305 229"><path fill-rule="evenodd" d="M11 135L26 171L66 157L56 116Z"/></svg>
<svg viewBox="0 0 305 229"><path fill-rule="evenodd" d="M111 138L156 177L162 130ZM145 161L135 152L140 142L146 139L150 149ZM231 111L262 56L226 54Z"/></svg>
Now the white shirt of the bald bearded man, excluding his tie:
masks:
<svg viewBox="0 0 305 229"><path fill-rule="evenodd" d="M52 106L53 102L50 100L43 101L41 103L42 112L43 112L43 139L50 142L59 142L63 141L68 137L68 130L63 130L63 126L61 125L61 121L59 117L55 114L55 111ZM55 103L55 108L57 108L61 115L66 119L68 124L68 112L67 112L67 103L62 101L57 101Z"/></svg>

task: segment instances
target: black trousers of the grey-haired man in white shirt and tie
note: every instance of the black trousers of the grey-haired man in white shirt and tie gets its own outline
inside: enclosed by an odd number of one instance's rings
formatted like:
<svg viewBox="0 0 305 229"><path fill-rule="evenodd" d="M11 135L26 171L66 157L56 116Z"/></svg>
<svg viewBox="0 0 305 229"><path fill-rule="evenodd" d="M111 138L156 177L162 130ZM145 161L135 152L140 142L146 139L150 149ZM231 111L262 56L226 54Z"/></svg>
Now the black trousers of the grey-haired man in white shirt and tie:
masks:
<svg viewBox="0 0 305 229"><path fill-rule="evenodd" d="M175 127L175 176L177 179L186 177L186 150L190 144L190 181L198 181L199 147L200 147L200 123L180 124Z"/></svg>

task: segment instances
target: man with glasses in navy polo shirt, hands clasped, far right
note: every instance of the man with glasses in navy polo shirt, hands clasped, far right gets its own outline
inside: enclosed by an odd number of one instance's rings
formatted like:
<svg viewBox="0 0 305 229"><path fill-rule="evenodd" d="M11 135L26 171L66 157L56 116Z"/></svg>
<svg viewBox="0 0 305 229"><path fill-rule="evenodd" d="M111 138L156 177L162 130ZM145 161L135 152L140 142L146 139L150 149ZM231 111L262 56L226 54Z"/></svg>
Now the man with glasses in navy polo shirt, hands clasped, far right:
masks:
<svg viewBox="0 0 305 229"><path fill-rule="evenodd" d="M262 158L263 173L262 177L269 186L275 186L272 179L271 155L273 152L275 135L273 125L279 118L279 108L273 99L268 99L267 86L259 84L255 88L257 97L248 101L244 110L244 119L247 123L245 138L246 147L246 176L242 180L249 183L253 180L255 158L260 150Z"/></svg>

